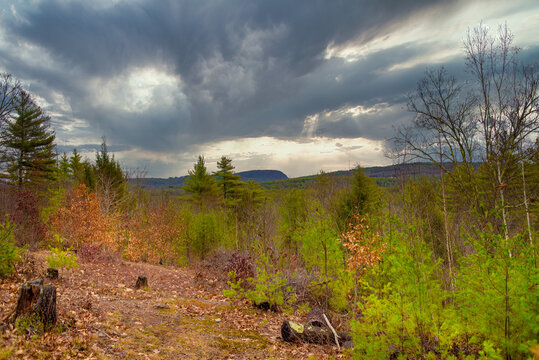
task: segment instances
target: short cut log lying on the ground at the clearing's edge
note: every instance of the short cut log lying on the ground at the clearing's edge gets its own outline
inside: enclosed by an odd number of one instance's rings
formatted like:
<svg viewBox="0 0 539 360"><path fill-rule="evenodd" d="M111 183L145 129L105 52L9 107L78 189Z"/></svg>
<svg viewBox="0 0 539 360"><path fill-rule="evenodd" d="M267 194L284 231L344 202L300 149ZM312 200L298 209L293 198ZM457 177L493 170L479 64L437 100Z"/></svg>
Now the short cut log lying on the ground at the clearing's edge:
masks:
<svg viewBox="0 0 539 360"><path fill-rule="evenodd" d="M352 338L348 333L338 332L339 345L351 346ZM321 326L301 324L295 321L285 320L281 326L281 336L287 342L308 342L312 344L335 344L333 332Z"/></svg>

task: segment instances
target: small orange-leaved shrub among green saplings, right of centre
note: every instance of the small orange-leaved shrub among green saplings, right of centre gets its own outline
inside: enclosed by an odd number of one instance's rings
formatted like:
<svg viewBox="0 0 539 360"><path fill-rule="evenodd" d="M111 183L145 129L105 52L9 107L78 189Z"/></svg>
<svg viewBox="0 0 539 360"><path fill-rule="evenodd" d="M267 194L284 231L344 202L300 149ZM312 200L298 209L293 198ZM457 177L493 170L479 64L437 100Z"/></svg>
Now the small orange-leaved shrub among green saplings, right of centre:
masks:
<svg viewBox="0 0 539 360"><path fill-rule="evenodd" d="M378 264L386 249L380 234L369 228L369 218L354 214L340 241L348 250L347 266L350 270L362 272L366 267Z"/></svg>

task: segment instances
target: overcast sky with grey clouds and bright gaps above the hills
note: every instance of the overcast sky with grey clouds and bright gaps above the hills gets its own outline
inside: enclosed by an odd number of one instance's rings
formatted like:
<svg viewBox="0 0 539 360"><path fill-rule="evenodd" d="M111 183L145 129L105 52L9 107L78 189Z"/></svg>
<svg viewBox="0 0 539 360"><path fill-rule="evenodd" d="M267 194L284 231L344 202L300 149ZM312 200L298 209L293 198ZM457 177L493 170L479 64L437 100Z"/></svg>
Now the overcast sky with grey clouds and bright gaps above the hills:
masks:
<svg viewBox="0 0 539 360"><path fill-rule="evenodd" d="M105 138L130 173L198 155L289 177L386 165L428 67L507 23L539 59L537 0L0 0L0 72L51 116L59 152Z"/></svg>

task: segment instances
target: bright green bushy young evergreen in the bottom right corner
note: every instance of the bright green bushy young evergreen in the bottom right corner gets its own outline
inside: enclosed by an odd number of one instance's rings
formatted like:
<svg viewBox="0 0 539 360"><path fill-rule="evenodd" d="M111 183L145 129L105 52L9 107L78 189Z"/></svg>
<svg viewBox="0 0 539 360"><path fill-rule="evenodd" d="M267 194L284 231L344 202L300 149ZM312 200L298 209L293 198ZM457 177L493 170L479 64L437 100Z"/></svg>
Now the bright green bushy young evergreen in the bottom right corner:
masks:
<svg viewBox="0 0 539 360"><path fill-rule="evenodd" d="M505 239L493 226L467 234L467 240L475 252L460 259L460 322L489 341L483 344L488 356L501 350L505 358L526 358L539 339L534 249L522 235Z"/></svg>

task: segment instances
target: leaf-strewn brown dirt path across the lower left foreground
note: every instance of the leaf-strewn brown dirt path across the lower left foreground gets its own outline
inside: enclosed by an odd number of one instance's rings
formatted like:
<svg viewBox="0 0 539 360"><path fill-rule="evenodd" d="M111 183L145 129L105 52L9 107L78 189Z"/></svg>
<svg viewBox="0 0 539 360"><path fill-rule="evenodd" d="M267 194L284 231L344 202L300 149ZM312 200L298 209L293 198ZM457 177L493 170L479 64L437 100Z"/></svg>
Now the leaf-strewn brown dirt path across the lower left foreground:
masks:
<svg viewBox="0 0 539 360"><path fill-rule="evenodd" d="M20 283L44 273L37 263L36 274L0 283L0 319L15 307ZM149 288L133 289L138 275ZM232 303L216 279L198 275L142 263L82 263L53 282L64 331L32 336L4 329L0 359L342 358L331 346L283 342L280 325L293 316Z"/></svg>

